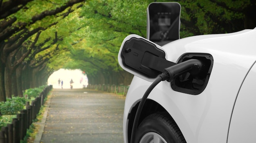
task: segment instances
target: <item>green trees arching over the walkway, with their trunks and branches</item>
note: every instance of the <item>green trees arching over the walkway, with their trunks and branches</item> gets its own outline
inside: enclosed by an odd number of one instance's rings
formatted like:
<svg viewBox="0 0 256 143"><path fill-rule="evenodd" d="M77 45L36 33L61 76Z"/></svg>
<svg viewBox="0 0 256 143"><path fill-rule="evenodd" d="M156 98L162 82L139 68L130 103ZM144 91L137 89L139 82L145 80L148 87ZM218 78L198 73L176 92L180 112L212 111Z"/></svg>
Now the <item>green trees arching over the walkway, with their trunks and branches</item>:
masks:
<svg viewBox="0 0 256 143"><path fill-rule="evenodd" d="M0 101L81 69L91 84L126 84L117 54L130 34L146 37L146 9L159 0L0 0ZM170 2L161 0L161 2ZM173 0L181 38L256 26L254 0Z"/></svg>

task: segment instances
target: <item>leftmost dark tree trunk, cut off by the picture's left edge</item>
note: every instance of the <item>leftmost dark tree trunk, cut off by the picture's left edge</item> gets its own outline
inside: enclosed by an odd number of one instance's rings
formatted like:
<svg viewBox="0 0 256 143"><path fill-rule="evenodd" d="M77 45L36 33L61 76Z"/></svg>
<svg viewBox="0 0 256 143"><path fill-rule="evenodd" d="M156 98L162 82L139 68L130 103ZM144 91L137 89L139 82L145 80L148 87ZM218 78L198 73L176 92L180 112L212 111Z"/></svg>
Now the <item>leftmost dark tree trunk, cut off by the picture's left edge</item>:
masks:
<svg viewBox="0 0 256 143"><path fill-rule="evenodd" d="M6 94L5 94L5 87L4 87L4 72L5 72L5 66L0 61L0 102L6 101Z"/></svg>

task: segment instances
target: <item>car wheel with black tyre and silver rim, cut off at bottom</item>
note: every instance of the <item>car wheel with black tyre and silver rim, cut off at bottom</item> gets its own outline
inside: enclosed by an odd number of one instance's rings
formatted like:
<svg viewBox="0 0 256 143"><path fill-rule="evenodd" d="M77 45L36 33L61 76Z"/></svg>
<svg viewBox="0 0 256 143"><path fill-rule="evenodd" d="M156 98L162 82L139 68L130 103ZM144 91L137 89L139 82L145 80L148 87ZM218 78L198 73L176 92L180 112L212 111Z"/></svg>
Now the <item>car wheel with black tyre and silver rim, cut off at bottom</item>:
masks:
<svg viewBox="0 0 256 143"><path fill-rule="evenodd" d="M135 132L135 143L186 143L182 132L167 113L146 117Z"/></svg>

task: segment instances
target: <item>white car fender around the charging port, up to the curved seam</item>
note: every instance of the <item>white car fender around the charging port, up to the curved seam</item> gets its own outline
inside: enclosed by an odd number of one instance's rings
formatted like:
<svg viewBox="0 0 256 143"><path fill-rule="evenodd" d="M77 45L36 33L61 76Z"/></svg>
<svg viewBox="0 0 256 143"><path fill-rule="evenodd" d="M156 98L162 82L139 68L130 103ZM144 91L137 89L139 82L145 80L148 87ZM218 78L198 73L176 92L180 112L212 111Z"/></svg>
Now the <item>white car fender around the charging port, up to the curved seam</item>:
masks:
<svg viewBox="0 0 256 143"><path fill-rule="evenodd" d="M167 60L177 63L186 53L208 53L213 69L207 87L199 95L173 91L160 82L148 96L173 117L189 143L227 143L229 123L239 89L256 60L256 30L179 39L163 46ZM134 77L124 109L124 141L127 119L133 106L152 82Z"/></svg>

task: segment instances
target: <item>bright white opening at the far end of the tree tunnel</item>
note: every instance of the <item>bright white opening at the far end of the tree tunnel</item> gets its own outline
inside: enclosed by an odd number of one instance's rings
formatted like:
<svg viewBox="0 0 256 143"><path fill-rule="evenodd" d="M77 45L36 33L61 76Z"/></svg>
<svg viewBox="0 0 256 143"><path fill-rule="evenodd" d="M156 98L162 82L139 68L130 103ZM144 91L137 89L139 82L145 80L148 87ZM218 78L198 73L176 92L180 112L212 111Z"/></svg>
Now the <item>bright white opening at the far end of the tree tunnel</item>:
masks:
<svg viewBox="0 0 256 143"><path fill-rule="evenodd" d="M88 78L80 69L69 70L59 69L48 78L48 85L52 85L55 89L61 89L61 83L58 85L58 79L63 80L63 89L70 89L70 80L73 80L74 89L82 89L83 85L88 85Z"/></svg>

